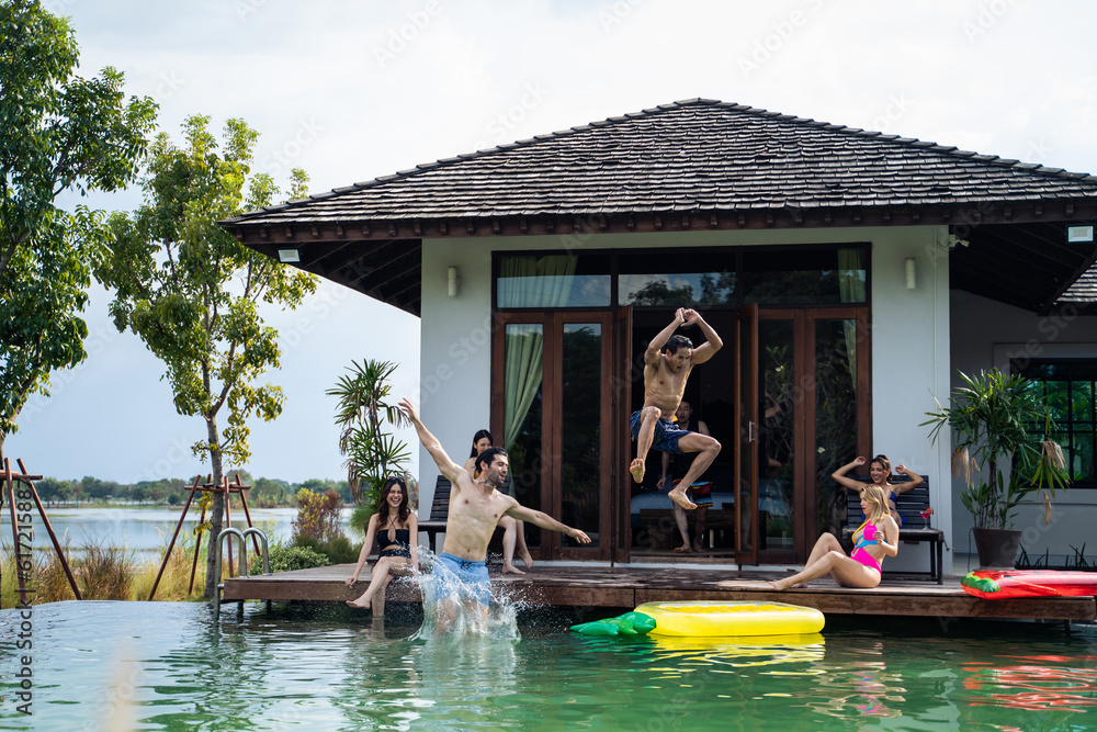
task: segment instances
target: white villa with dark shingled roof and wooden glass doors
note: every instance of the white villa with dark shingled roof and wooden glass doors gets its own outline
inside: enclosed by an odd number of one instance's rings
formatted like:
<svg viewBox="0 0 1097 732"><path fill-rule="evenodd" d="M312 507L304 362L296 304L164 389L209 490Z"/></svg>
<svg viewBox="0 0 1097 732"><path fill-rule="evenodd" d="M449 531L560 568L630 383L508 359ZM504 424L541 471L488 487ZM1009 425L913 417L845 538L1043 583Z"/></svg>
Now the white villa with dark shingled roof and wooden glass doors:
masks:
<svg viewBox="0 0 1097 732"><path fill-rule="evenodd" d="M958 370L1041 378L1050 364L1088 390L1062 436L1081 480L1054 530L1037 505L1018 526L1030 555L1089 536L1095 221L1094 176L695 99L225 225L421 318L423 421L451 455L489 426L518 499L593 539L527 527L538 559L667 554L641 520L659 454L634 484L627 425L647 342L688 306L724 342L686 395L723 446L711 555L802 563L841 511L830 473L886 453L929 476L948 572L971 518L949 446L919 425ZM420 466L429 509L437 472L426 453ZM915 547L894 564L926 562Z"/></svg>

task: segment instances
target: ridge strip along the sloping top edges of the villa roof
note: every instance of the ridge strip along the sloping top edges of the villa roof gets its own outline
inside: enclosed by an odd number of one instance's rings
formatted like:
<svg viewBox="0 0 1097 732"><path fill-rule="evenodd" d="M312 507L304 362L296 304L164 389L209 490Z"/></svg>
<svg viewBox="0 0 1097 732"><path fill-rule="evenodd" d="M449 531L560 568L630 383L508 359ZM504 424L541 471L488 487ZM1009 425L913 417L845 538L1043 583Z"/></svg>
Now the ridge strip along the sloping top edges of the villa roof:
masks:
<svg viewBox="0 0 1097 732"><path fill-rule="evenodd" d="M567 129L558 129L556 132L534 135L533 137L518 139L512 143L500 143L499 145L483 148L479 150L474 150L472 153L461 153L446 158L439 158L438 160L433 160L430 162L421 162L415 166L414 168L406 168L404 170L397 170L395 173L377 176L372 180L360 181L352 183L351 185L344 185L341 188L333 188L330 191L324 191L320 193L310 193L308 194L307 198L304 199L296 199L293 201L287 201L285 203L265 206L263 209L259 209L256 211L245 212L239 216L235 216L229 221L237 221L244 217L251 216L252 214L259 214L264 212L284 211L285 209L304 205L310 201L330 199L333 196L354 193L384 183L391 183L396 180L411 178L414 176L422 174L425 172L437 170L439 168L466 162L468 160L475 160L493 155L508 153L510 150L514 150L522 147L531 147L533 145L538 145L539 143L561 139L562 137L568 137L570 135L575 135L577 133L583 133L583 132L589 132L591 129L600 129L604 127L632 123L636 120L661 116L675 111L689 108L720 108L723 110L742 114L749 114L757 117L777 119L780 120L781 122L787 122L794 125L810 125L814 127L819 127L822 129L827 129L829 132L853 135L857 137L878 140L878 142L886 142L894 145L901 145L903 147L917 148L923 151L931 151L931 153L937 153L939 155L947 155L950 157L959 157L969 160L976 160L979 162L994 165L997 167L1014 168L1017 170L1022 170L1027 173L1038 173L1041 176L1056 177L1056 178L1066 177L1074 180L1088 180L1092 182L1097 182L1097 176L1094 176L1092 173L1070 172L1063 168L1048 168L1041 164L1021 162L1019 160L1002 158L996 155L981 155L979 153L974 153L971 150L961 150L957 146L940 145L935 142L921 140L915 137L901 137L900 135L887 134L877 131L869 131L860 127L850 127L848 125L840 125L830 122L817 121L811 117L801 117L793 114L771 112L769 110L750 106L748 104L739 104L736 102L724 102L717 99L694 97L691 99L678 100L666 104L658 104L656 106L643 109L640 112L626 112L621 115L606 117L604 120L596 120L592 122L588 122L586 124L568 127Z"/></svg>

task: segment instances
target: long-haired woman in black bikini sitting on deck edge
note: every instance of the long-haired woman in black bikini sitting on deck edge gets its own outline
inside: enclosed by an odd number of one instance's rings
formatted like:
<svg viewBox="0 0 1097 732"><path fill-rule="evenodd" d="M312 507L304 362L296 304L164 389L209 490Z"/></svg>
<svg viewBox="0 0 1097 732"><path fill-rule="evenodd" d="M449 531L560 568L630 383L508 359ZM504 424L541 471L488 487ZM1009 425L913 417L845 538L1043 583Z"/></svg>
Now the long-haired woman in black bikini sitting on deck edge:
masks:
<svg viewBox="0 0 1097 732"><path fill-rule="evenodd" d="M373 596L388 585L392 575L414 574L419 566L419 523L416 515L408 508L408 488L404 481L391 477L381 488L381 508L370 517L365 530L365 543L358 555L358 566L354 574L344 581L352 587L358 582L358 575L365 566L365 558L370 555L373 540L376 538L381 553L377 563L373 565L370 586L357 600L347 600L352 608L369 608ZM376 615L383 615L382 608Z"/></svg>

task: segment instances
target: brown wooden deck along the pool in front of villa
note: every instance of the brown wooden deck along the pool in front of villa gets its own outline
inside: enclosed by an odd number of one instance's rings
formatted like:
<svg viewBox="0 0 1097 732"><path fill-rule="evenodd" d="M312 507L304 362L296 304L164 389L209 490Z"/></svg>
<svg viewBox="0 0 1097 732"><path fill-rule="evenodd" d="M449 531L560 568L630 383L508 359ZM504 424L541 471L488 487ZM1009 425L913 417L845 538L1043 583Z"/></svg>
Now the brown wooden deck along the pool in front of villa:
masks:
<svg viewBox="0 0 1097 732"><path fill-rule="evenodd" d="M295 570L273 575L237 577L225 582L223 601L354 599L365 589L352 592L343 579L353 565ZM632 608L642 603L671 600L756 600L802 605L835 615L911 616L929 618L1011 618L1033 620L1097 619L1093 597L1047 597L984 600L963 592L959 579L943 585L884 579L873 589L848 589L819 579L806 589L777 593L764 582L781 576L776 572L685 568L672 565L633 567L585 564L539 565L524 576L491 572L493 592L533 605ZM386 601L421 601L409 581L395 579Z"/></svg>

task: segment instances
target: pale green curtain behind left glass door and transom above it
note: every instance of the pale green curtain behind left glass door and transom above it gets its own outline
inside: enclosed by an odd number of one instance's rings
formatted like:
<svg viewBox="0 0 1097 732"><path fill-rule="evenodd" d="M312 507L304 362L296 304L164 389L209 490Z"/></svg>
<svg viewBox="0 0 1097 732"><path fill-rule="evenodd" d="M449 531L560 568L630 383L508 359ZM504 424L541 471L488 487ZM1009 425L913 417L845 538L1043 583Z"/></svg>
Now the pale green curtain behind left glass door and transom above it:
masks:
<svg viewBox="0 0 1097 732"><path fill-rule="evenodd" d="M505 257L500 268L502 307L564 307L572 295L577 258L567 255ZM522 428L544 373L544 329L511 324L506 337L506 398L502 447L510 450Z"/></svg>

